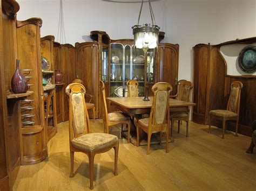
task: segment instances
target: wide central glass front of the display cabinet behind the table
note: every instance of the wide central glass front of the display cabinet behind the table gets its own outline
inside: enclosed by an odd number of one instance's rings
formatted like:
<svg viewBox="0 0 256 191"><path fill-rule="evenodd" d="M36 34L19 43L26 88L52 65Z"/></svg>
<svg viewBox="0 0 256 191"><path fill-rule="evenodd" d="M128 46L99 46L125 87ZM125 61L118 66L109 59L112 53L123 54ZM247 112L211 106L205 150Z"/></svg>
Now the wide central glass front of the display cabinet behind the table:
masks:
<svg viewBox="0 0 256 191"><path fill-rule="evenodd" d="M144 96L145 55L143 49L133 44L110 44L110 96L127 97L126 81L139 82L139 96Z"/></svg>

